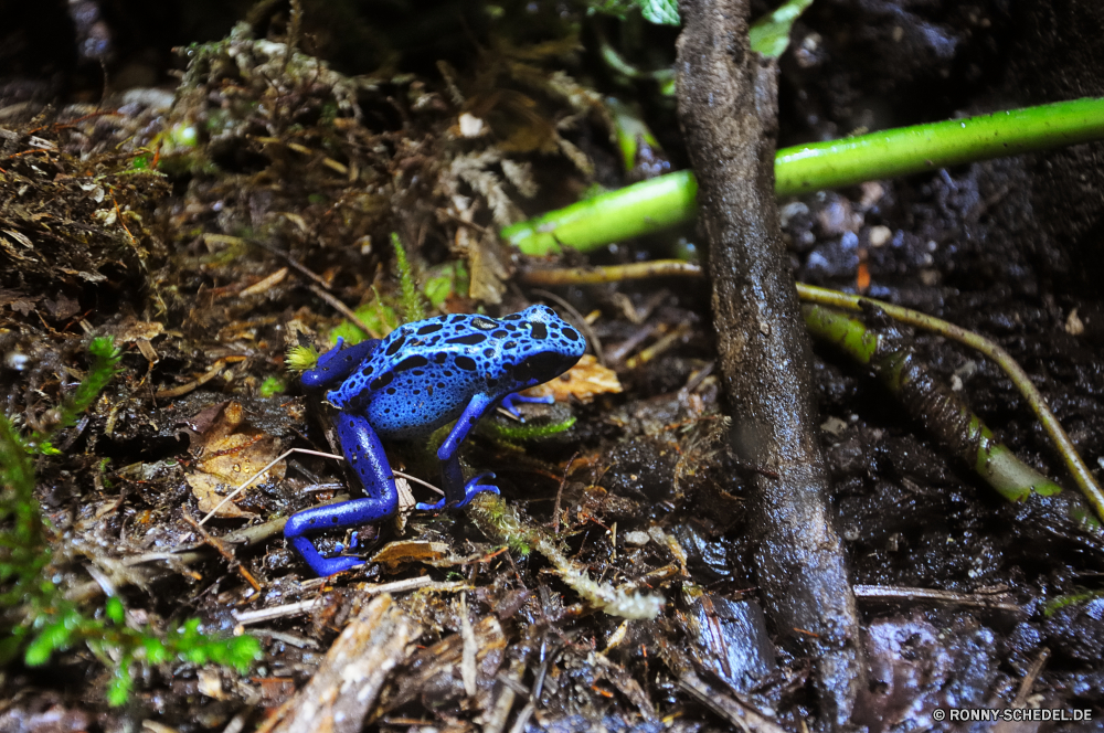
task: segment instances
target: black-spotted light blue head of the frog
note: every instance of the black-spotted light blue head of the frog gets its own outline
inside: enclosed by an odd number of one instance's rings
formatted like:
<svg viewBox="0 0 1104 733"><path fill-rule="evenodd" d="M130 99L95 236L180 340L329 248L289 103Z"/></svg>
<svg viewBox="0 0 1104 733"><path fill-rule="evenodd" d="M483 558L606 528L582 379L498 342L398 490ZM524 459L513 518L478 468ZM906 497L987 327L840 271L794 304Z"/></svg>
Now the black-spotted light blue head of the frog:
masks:
<svg viewBox="0 0 1104 733"><path fill-rule="evenodd" d="M508 379L522 390L555 379L575 365L586 339L548 306L530 306L501 319L518 328L513 349L503 349ZM511 333L511 337L513 333Z"/></svg>

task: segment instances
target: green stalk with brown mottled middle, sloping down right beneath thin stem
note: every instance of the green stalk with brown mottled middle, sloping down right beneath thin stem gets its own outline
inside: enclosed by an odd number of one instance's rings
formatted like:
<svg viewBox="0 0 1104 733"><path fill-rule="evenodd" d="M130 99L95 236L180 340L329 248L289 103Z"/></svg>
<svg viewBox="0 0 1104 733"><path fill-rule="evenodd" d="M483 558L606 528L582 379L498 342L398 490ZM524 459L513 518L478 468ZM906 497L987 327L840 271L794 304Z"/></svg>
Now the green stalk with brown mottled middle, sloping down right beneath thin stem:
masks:
<svg viewBox="0 0 1104 733"><path fill-rule="evenodd" d="M1062 492L1062 487L998 442L980 417L931 375L899 334L870 329L856 318L820 305L805 304L802 311L814 338L835 344L869 366L913 417L1005 499L1020 503L1031 495L1054 497ZM1104 528L1080 497L1065 498L1066 519L1081 531L1104 538Z"/></svg>

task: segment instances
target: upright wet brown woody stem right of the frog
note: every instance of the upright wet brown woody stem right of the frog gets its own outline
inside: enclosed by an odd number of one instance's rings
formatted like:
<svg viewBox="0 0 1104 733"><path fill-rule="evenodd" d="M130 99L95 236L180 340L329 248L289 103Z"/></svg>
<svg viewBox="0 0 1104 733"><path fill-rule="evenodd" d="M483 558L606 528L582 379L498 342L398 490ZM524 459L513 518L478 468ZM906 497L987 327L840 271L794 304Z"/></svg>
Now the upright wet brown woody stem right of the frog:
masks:
<svg viewBox="0 0 1104 733"><path fill-rule="evenodd" d="M862 687L854 596L828 509L809 338L774 200L777 73L747 41L747 0L683 0L679 121L698 176L718 349L754 480L756 571L779 640L816 663L820 730L845 729Z"/></svg>

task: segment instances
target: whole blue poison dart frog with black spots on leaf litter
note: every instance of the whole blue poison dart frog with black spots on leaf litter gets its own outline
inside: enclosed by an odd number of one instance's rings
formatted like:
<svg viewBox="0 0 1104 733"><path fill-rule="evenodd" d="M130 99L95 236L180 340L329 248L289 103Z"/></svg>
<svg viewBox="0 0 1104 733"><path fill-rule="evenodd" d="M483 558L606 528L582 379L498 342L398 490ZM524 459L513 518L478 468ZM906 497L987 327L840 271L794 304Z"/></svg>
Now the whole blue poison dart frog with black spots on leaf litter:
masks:
<svg viewBox="0 0 1104 733"><path fill-rule="evenodd" d="M551 402L524 397L518 390L548 382L578 361L586 340L546 306L495 319L442 316L406 323L383 340L348 349L338 344L304 372L307 389L328 387L326 399L340 413L338 438L346 460L360 477L363 499L314 507L287 520L284 537L319 575L360 565L359 557L323 557L307 534L358 527L385 519L399 504L395 479L382 439L424 438L442 425L456 426L437 450L445 498L418 509L458 509L480 491L493 474L464 481L457 449L468 431L498 403L517 415L514 402Z"/></svg>

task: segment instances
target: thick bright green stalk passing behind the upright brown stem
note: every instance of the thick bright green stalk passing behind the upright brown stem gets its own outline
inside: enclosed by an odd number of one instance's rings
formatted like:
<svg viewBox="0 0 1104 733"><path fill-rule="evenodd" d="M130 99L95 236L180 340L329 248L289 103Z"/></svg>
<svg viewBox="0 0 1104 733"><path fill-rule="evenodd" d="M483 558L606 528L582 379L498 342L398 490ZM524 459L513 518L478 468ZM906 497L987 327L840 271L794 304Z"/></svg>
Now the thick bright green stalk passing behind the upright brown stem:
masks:
<svg viewBox="0 0 1104 733"><path fill-rule="evenodd" d="M1104 98L1059 102L783 148L775 194L794 195L1104 138ZM689 221L698 182L678 171L506 227L527 255L588 252Z"/></svg>

